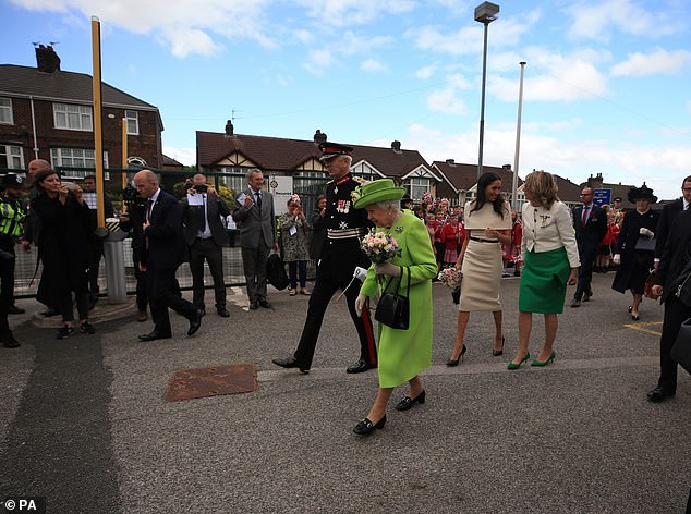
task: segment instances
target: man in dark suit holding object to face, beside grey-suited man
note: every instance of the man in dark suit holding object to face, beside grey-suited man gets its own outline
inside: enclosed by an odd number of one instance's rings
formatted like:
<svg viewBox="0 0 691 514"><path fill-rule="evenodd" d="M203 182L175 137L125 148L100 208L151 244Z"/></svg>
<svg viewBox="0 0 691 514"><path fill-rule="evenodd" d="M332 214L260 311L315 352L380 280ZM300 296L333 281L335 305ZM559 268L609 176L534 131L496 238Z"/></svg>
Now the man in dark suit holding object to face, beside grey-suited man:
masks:
<svg viewBox="0 0 691 514"><path fill-rule="evenodd" d="M192 271L192 303L206 314L204 305L204 259L209 265L214 279L216 311L228 318L226 308L226 282L223 281L223 245L228 242L220 217L230 215L228 205L214 187L206 183L206 176L197 173L187 187L184 206L184 235L190 247L190 271Z"/></svg>

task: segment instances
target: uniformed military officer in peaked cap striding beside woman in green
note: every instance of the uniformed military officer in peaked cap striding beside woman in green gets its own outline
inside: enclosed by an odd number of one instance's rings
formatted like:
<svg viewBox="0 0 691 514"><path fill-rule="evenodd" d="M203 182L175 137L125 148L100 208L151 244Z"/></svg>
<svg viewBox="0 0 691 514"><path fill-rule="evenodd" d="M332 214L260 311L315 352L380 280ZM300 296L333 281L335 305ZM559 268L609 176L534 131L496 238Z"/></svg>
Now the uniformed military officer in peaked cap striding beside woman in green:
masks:
<svg viewBox="0 0 691 514"><path fill-rule="evenodd" d="M326 186L327 238L322 249L317 267L317 280L310 297L307 318L302 330L298 350L293 356L274 359L274 364L283 368L299 368L306 374L312 366L314 350L319 336L319 329L329 301L336 291L346 291L348 309L360 336L360 359L348 367L350 374L366 371L377 366L376 347L372 319L366 308L361 316L355 309L355 299L361 283L353 281L355 267L368 268L371 262L360 249L360 242L372 227L364 209L354 209L350 194L362 181L350 174L351 154L349 146L336 143L319 145L322 157L331 181Z"/></svg>

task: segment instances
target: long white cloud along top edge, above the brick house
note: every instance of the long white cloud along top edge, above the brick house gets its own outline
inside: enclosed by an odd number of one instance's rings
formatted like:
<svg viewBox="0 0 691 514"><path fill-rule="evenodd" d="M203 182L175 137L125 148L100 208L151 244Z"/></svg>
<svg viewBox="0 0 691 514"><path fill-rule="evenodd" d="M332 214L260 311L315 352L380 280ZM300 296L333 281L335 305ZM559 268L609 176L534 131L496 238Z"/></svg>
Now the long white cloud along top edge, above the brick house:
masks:
<svg viewBox="0 0 691 514"><path fill-rule="evenodd" d="M263 8L269 0L11 0L29 10L98 15L112 25L137 34L153 34L180 58L210 56L223 49L219 38L253 39L266 48L276 42L264 32ZM74 23L74 22L72 22ZM211 37L214 36L214 37Z"/></svg>

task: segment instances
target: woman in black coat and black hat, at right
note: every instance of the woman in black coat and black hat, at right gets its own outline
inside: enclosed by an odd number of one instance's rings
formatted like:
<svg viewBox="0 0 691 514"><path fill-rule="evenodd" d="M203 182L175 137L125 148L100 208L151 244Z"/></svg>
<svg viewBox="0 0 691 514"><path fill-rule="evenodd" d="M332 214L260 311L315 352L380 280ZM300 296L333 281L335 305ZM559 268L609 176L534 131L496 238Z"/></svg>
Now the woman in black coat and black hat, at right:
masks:
<svg viewBox="0 0 691 514"><path fill-rule="evenodd" d="M651 204L657 201L657 197L645 182L641 187L629 191L629 201L635 204L635 210L628 211L623 217L614 256L614 262L620 262L620 266L611 289L620 293L631 291L633 299L629 314L632 320L638 321L641 319L639 306L643 301L645 280L653 269L659 212L651 209Z"/></svg>

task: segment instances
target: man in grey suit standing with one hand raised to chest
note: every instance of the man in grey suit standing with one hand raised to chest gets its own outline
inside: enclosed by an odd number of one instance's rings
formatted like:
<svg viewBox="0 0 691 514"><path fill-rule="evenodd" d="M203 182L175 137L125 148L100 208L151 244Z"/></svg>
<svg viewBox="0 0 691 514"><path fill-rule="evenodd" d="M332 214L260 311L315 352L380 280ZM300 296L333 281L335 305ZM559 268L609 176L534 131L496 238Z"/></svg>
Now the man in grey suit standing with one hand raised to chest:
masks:
<svg viewBox="0 0 691 514"><path fill-rule="evenodd" d="M240 223L240 247L247 282L250 309L268 309L266 299L266 261L271 248L278 250L274 197L262 191L264 174L256 168L247 172L248 187L235 198L233 220Z"/></svg>

